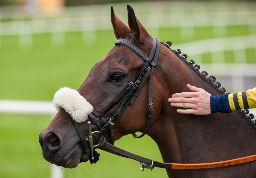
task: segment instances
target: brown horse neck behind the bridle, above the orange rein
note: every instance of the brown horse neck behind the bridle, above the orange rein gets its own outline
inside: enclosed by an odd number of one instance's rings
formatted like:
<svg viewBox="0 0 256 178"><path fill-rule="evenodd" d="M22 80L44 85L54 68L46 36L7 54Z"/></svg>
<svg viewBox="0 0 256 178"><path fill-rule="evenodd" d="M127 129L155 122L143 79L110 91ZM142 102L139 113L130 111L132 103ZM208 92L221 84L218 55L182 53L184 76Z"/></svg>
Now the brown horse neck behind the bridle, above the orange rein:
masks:
<svg viewBox="0 0 256 178"><path fill-rule="evenodd" d="M162 75L166 83L159 85L162 108L149 136L156 141L164 162L215 162L256 154L255 128L240 112L206 116L177 113L167 100L174 93L189 91L187 83L213 95L220 93L173 53L161 52L159 63L156 77Z"/></svg>

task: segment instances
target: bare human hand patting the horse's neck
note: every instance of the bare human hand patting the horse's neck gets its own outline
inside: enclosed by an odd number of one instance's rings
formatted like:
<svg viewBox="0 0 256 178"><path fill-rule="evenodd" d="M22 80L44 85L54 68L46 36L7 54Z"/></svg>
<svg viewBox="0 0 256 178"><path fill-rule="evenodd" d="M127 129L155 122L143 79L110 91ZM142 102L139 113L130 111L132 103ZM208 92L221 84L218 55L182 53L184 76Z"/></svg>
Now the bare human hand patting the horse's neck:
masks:
<svg viewBox="0 0 256 178"><path fill-rule="evenodd" d="M177 109L182 114L207 115L211 114L211 94L204 89L196 88L187 84L188 89L192 92L175 93L168 101L171 106L189 108Z"/></svg>

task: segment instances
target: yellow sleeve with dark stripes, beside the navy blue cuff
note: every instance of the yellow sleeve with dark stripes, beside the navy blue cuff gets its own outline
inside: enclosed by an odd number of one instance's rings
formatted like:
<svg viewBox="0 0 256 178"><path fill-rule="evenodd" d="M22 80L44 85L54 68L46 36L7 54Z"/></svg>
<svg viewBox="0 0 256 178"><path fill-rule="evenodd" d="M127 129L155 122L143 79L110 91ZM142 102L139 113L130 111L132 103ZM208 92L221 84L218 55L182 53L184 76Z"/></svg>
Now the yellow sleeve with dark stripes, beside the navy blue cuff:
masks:
<svg viewBox="0 0 256 178"><path fill-rule="evenodd" d="M256 87L244 92L229 94L228 102L231 110L256 108Z"/></svg>

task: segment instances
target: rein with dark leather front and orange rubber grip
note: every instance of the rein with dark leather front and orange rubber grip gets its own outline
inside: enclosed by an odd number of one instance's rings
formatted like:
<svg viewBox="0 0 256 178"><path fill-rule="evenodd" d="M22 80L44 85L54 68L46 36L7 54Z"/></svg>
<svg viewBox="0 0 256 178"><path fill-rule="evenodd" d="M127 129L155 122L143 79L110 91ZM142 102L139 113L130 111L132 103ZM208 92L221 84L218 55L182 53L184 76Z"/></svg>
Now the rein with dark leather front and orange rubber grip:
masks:
<svg viewBox="0 0 256 178"><path fill-rule="evenodd" d="M256 154L255 154L255 155L237 158L233 160L226 160L226 161L212 162L212 163L195 163L195 164L162 163L162 162L155 161L154 159L150 160L148 158L144 158L136 154L127 152L125 150L122 150L114 145L109 144L105 138L100 138L98 143L100 145L99 149L112 154L116 154L118 156L137 160L143 163L142 168L151 168L151 170L154 167L160 167L165 169L207 169L207 168L214 168L214 167L231 166L235 164L241 164L241 163L246 163L246 162L251 162L256 160Z"/></svg>

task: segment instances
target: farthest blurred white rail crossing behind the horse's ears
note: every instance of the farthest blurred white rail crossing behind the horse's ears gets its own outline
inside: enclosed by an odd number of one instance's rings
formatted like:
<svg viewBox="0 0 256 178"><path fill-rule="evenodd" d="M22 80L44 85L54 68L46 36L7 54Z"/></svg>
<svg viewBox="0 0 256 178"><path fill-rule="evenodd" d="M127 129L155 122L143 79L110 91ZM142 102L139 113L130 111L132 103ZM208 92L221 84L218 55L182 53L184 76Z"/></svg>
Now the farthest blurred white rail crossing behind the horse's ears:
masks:
<svg viewBox="0 0 256 178"><path fill-rule="evenodd" d="M83 14L82 14L83 15ZM126 15L119 15L126 19ZM249 31L253 32L256 25L255 12L197 12L197 13L156 13L137 15L145 28L164 27L207 27L215 28L232 25L249 25ZM221 17L221 20L220 20ZM125 20L124 20L125 21ZM68 18L50 18L19 20L11 22L0 22L0 36L27 35L39 33L56 32L83 32L95 30L111 30L110 17L108 16L81 16ZM189 28L191 31L191 29ZM220 30L215 30L220 33ZM226 29L224 29L225 33Z"/></svg>

